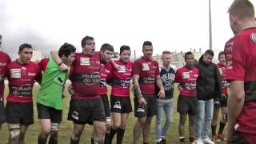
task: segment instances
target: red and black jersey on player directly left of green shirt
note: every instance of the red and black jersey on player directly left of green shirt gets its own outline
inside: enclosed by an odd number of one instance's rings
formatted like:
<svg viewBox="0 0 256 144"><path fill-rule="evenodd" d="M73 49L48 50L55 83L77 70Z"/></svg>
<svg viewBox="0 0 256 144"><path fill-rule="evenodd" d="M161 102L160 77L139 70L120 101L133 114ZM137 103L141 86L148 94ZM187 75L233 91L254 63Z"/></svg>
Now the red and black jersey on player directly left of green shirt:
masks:
<svg viewBox="0 0 256 144"><path fill-rule="evenodd" d="M6 69L10 90L7 102L32 102L34 81L42 78L41 75L38 64L34 62L27 64L10 62Z"/></svg>

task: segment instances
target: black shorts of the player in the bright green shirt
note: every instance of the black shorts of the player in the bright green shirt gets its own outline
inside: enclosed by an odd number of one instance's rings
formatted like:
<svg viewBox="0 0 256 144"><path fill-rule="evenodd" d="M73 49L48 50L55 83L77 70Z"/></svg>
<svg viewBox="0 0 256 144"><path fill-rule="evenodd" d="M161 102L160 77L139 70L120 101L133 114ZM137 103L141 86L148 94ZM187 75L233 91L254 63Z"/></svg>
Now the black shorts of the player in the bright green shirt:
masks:
<svg viewBox="0 0 256 144"><path fill-rule="evenodd" d="M37 103L38 119L50 119L52 123L62 122L62 110L56 110L50 106Z"/></svg>

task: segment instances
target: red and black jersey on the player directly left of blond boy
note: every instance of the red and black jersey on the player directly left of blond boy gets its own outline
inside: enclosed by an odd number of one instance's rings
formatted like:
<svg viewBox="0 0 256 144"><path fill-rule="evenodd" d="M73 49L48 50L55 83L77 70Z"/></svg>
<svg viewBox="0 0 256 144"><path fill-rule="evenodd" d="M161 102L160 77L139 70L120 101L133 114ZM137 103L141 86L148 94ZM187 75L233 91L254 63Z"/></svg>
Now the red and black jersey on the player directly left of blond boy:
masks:
<svg viewBox="0 0 256 144"><path fill-rule="evenodd" d="M139 75L138 84L142 94L154 94L155 77L159 76L158 62L149 58L139 58L134 62L133 75Z"/></svg>

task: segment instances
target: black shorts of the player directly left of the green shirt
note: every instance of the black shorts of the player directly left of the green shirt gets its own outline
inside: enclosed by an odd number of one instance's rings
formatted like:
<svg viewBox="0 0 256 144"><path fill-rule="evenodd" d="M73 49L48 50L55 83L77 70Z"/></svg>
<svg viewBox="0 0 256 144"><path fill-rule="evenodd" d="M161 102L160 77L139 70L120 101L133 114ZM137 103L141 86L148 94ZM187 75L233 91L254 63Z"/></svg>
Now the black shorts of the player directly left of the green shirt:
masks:
<svg viewBox="0 0 256 144"><path fill-rule="evenodd" d="M6 120L10 124L33 124L33 102L6 102Z"/></svg>

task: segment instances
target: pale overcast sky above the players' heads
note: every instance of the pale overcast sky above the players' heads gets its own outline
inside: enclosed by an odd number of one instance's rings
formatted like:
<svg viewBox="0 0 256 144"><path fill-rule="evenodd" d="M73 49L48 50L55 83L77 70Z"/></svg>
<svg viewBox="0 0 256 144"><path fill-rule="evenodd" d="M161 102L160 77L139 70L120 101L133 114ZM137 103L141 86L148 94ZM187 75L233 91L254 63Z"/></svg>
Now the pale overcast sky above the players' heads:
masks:
<svg viewBox="0 0 256 144"><path fill-rule="evenodd" d="M216 52L233 36L227 13L231 2L211 1ZM154 54L209 49L208 0L1 0L0 19L4 50L13 57L22 42L45 54L64 42L81 51L86 35L95 38L97 50L106 42L115 51L129 45L137 56L146 40L153 42Z"/></svg>

